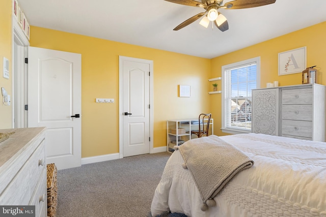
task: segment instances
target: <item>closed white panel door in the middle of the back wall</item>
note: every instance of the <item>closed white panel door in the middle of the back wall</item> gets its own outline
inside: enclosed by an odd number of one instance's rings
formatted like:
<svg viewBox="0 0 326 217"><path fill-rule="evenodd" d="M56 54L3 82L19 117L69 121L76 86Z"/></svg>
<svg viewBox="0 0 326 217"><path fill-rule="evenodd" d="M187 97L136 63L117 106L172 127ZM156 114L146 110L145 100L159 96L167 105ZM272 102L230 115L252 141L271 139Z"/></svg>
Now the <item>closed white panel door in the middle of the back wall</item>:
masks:
<svg viewBox="0 0 326 217"><path fill-rule="evenodd" d="M149 153L152 61L122 56L119 61L123 157Z"/></svg>

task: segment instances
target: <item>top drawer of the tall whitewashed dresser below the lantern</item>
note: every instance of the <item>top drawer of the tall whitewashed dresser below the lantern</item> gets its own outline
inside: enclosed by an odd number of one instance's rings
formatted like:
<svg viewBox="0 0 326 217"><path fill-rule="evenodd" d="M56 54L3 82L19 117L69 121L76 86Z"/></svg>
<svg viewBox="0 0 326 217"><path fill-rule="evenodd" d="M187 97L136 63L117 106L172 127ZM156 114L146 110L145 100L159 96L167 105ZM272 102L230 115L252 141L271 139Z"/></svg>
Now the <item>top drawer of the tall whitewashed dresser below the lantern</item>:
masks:
<svg viewBox="0 0 326 217"><path fill-rule="evenodd" d="M312 104L312 88L302 89L283 89L282 90L282 104Z"/></svg>

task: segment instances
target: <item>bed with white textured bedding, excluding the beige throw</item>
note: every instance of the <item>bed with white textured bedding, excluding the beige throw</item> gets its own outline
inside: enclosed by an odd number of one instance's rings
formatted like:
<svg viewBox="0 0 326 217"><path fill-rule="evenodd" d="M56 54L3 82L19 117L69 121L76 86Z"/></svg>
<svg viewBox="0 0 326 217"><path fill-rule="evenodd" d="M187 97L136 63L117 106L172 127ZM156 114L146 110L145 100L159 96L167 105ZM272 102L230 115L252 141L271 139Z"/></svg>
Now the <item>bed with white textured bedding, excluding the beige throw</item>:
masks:
<svg viewBox="0 0 326 217"><path fill-rule="evenodd" d="M253 133L219 138L253 166L234 175L213 198L216 205L202 211L202 195L176 150L155 190L152 216L167 211L189 217L326 216L326 143Z"/></svg>

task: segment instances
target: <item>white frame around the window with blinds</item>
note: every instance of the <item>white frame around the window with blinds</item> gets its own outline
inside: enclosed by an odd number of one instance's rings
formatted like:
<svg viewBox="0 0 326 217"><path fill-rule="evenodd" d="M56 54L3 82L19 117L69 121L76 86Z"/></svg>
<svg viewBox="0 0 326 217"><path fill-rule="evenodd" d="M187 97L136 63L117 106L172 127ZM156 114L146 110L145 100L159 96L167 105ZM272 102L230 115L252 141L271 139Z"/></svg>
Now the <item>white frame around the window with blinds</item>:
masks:
<svg viewBox="0 0 326 217"><path fill-rule="evenodd" d="M241 66L250 65L252 63L256 63L256 89L260 88L260 56L238 61L236 63L228 64L225 66L222 66L222 132L223 133L229 133L229 134L240 134L240 133L251 133L252 130L242 130L242 129L236 129L236 128L230 128L225 126L225 100L226 100L226 89L225 89L225 71L231 70L234 68L238 68Z"/></svg>

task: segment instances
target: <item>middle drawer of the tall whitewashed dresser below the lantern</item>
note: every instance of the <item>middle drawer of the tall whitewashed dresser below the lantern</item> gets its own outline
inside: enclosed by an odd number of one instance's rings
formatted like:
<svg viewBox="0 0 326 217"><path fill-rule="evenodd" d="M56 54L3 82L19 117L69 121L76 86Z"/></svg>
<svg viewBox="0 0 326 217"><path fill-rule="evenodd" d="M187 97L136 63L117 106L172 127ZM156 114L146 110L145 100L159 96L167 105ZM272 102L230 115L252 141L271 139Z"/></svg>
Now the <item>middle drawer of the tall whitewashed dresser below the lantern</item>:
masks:
<svg viewBox="0 0 326 217"><path fill-rule="evenodd" d="M312 105L282 105L282 119L312 121Z"/></svg>

